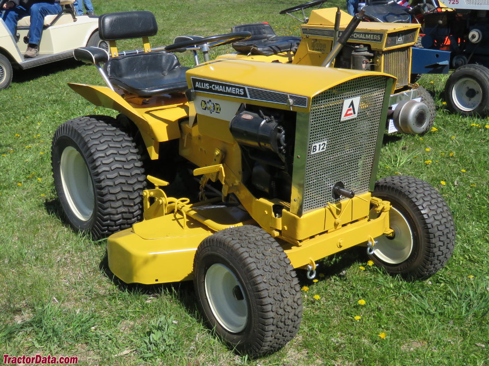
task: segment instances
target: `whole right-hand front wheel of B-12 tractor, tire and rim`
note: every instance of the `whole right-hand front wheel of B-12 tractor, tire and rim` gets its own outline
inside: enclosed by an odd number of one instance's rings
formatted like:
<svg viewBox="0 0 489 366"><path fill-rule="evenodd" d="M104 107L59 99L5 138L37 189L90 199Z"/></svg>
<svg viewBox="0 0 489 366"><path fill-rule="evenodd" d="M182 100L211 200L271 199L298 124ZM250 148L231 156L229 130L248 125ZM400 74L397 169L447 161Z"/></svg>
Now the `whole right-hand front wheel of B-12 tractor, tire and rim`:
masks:
<svg viewBox="0 0 489 366"><path fill-rule="evenodd" d="M371 259L410 280L426 279L440 270L452 254L455 227L438 191L421 179L390 176L375 183L372 195L391 203L394 233L375 238Z"/></svg>

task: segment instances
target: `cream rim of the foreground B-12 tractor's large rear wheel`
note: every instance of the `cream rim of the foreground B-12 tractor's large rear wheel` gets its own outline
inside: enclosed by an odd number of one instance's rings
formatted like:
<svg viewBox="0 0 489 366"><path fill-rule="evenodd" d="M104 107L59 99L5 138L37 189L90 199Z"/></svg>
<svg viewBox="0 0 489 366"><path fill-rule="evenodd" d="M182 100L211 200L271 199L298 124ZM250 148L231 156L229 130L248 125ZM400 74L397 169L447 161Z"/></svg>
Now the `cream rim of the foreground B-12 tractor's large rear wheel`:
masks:
<svg viewBox="0 0 489 366"><path fill-rule="evenodd" d="M88 221L95 207L95 189L82 154L72 146L66 147L61 154L60 170L63 191L73 214Z"/></svg>

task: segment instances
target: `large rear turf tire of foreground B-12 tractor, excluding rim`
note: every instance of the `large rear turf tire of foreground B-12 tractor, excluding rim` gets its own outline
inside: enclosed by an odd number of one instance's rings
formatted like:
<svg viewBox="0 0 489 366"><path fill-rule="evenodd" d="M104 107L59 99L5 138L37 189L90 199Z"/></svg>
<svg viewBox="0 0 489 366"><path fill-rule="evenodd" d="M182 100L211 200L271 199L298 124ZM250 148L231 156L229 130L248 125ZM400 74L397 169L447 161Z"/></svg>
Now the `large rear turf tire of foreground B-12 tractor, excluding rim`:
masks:
<svg viewBox="0 0 489 366"><path fill-rule="evenodd" d="M74 216L60 177L63 148L75 147L87 164L95 189L95 207L87 221ZM143 214L146 177L133 139L109 116L84 116L59 126L51 145L52 174L64 215L77 231L95 240L129 228Z"/></svg>

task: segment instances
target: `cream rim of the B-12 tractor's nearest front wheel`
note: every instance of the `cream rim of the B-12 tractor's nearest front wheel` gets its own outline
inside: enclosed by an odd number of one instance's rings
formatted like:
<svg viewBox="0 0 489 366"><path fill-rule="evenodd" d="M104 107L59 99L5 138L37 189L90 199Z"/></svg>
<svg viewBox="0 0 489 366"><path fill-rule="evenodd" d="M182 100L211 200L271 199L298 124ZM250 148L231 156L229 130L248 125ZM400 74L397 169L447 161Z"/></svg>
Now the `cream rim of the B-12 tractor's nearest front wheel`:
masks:
<svg viewBox="0 0 489 366"><path fill-rule="evenodd" d="M224 264L212 264L207 270L205 294L212 314L227 331L238 333L246 327L246 296L234 273Z"/></svg>

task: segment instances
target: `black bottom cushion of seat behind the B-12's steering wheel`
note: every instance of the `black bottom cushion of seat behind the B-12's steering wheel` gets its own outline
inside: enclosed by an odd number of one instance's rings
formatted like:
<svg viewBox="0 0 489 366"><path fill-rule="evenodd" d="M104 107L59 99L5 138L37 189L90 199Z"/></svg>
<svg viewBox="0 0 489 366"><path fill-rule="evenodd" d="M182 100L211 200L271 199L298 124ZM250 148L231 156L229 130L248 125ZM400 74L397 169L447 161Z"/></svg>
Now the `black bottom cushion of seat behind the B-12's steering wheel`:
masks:
<svg viewBox="0 0 489 366"><path fill-rule="evenodd" d="M300 37L282 36L258 41L242 41L233 43L239 53L269 56L280 52L295 53L301 42Z"/></svg>

